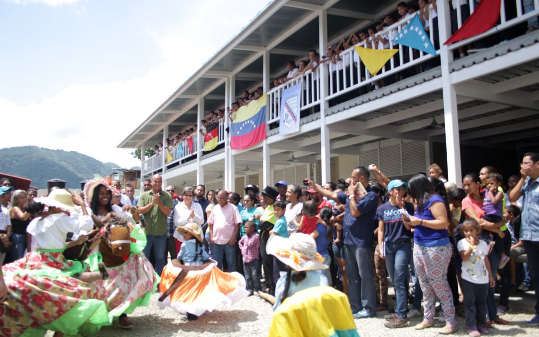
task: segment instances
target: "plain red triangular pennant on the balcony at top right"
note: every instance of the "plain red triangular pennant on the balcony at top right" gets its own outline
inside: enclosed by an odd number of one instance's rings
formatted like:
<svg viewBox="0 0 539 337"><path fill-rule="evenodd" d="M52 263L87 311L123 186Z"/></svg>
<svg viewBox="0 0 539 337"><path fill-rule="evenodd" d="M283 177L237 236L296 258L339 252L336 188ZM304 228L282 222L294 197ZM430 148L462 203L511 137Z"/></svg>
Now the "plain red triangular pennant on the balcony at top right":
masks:
<svg viewBox="0 0 539 337"><path fill-rule="evenodd" d="M450 44L486 32L498 22L500 18L501 0L483 0L479 3L472 15L460 26L445 43ZM466 6L466 5L465 5Z"/></svg>

